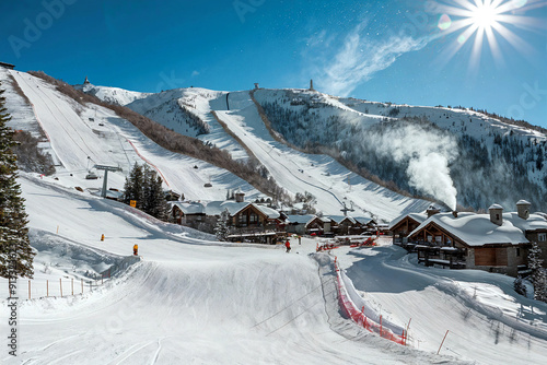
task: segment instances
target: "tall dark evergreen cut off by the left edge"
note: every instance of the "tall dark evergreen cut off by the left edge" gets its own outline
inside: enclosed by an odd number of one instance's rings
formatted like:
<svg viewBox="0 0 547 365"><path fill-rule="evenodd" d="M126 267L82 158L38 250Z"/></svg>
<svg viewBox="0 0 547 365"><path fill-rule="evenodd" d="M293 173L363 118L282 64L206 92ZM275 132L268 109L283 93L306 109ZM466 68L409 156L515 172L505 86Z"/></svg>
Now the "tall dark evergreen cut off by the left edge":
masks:
<svg viewBox="0 0 547 365"><path fill-rule="evenodd" d="M11 119L0 91L0 276L32 278L34 252L26 227L27 215L21 186L16 182L16 156L12 148L13 130L5 123Z"/></svg>

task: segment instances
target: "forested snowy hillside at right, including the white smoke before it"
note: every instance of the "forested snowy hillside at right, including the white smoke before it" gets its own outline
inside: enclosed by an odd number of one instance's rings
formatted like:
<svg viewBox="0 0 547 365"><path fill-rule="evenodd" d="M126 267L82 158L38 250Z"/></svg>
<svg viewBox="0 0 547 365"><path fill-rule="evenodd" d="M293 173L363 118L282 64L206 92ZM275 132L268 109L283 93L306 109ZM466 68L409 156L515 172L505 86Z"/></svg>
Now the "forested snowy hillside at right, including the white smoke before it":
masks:
<svg viewBox="0 0 547 365"><path fill-rule="evenodd" d="M335 150L415 195L547 209L546 136L467 109L373 103L304 90L258 90L272 128L309 150Z"/></svg>

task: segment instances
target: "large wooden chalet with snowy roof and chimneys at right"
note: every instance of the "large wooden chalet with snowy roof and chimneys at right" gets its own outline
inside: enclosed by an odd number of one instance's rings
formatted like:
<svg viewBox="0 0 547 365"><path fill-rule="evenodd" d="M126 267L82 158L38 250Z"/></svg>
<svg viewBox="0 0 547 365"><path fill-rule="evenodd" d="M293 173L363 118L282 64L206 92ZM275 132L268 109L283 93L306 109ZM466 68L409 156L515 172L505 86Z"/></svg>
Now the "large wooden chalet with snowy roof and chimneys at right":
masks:
<svg viewBox="0 0 547 365"><path fill-rule="evenodd" d="M547 235L547 220L539 214L525 214L524 209L516 213L502 211L502 207L493 204L489 214L432 215L408 234L408 244L415 245L418 261L426 266L516 276L527 263L531 238Z"/></svg>

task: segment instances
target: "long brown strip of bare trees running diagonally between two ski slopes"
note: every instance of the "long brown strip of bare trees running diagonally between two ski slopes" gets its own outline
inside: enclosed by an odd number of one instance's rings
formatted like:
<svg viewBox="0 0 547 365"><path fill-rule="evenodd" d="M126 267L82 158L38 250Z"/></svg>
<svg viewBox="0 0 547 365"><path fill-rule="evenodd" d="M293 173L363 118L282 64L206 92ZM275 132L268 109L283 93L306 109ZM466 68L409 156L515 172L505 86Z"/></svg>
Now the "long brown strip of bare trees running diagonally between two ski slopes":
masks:
<svg viewBox="0 0 547 365"><path fill-rule="evenodd" d="M55 85L59 92L70 98L73 98L82 105L85 105L85 103L92 103L115 111L118 117L131 122L144 136L168 151L185 154L190 157L206 161L214 166L225 168L232 174L246 180L257 190L267 196L276 197L279 201L289 202L291 200L290 195L283 188L279 187L271 177L264 177L254 165L233 160L230 153L225 150L221 150L210 144L203 144L203 142L198 139L176 133L173 130L125 106L102 102L96 96L78 91L68 83L51 78L42 71L30 71L28 73Z"/></svg>

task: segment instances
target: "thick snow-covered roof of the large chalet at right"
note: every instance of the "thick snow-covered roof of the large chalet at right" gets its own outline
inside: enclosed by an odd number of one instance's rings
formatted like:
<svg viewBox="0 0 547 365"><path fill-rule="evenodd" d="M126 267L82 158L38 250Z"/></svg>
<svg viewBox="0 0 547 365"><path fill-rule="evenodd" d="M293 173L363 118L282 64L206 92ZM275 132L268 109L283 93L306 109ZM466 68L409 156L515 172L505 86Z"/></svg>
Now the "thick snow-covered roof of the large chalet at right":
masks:
<svg viewBox="0 0 547 365"><path fill-rule="evenodd" d="M516 213L503 214L503 223L500 226L490 221L489 214L459 213L455 217L452 213L439 213L422 222L409 234L409 237L420 232L430 223L434 223L469 246L527 244L528 240L524 232L513 224L515 220L512 214L516 215Z"/></svg>

